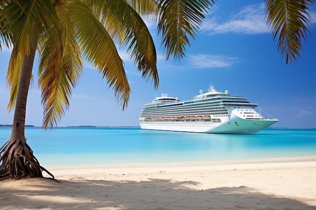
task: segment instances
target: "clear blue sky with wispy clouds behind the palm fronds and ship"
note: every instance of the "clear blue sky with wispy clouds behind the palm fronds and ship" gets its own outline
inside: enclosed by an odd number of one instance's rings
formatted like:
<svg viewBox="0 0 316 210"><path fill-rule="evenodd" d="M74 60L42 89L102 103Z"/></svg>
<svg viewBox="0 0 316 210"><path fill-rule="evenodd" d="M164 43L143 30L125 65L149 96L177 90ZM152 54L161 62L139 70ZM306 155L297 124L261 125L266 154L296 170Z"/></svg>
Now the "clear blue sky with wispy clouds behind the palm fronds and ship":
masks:
<svg viewBox="0 0 316 210"><path fill-rule="evenodd" d="M133 62L120 50L132 89L128 108L122 111L106 80L85 62L84 74L58 126L138 126L141 108L156 95L169 93L185 100L198 95L200 89L205 92L212 83L218 91L228 90L258 103L258 108L279 119L274 127L316 127L315 5L311 8L308 43L303 42L301 55L292 65L285 64L277 51L277 43L266 25L263 0L217 2L180 63L165 60L154 25L148 26L158 54L159 89L142 81ZM11 51L4 49L0 53L0 124L12 124L14 112L7 110L9 89L5 80ZM26 124L41 126L43 108L36 73L35 61Z"/></svg>

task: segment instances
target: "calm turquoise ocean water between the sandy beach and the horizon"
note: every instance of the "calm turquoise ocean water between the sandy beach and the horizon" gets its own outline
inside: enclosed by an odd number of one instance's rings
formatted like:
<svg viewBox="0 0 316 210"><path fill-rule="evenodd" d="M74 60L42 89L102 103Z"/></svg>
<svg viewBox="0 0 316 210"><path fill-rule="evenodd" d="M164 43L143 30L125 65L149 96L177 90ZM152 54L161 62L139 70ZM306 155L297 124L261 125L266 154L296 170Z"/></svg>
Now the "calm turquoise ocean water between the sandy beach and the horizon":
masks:
<svg viewBox="0 0 316 210"><path fill-rule="evenodd" d="M264 129L255 135L118 127L28 127L27 143L45 168L230 161L316 156L316 129ZM0 127L4 145L11 127Z"/></svg>

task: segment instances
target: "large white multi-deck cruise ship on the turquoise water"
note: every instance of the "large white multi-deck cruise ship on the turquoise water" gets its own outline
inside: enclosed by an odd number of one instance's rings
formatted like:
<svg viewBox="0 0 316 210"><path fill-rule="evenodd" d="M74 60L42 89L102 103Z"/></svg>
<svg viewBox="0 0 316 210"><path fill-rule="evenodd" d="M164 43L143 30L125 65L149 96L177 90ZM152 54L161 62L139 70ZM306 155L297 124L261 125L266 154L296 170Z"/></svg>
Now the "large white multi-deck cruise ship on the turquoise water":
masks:
<svg viewBox="0 0 316 210"><path fill-rule="evenodd" d="M141 110L139 124L142 129L170 130L201 133L255 134L278 122L265 119L254 110L258 104L245 97L218 92L212 84L207 93L190 100L162 94Z"/></svg>

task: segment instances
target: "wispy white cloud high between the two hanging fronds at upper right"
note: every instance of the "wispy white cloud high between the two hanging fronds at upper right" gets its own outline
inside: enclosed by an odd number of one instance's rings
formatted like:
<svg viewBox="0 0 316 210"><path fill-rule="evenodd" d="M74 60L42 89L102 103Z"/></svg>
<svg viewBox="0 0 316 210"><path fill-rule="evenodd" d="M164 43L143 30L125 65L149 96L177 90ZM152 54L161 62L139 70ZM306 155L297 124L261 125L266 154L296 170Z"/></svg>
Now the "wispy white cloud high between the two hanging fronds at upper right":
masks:
<svg viewBox="0 0 316 210"><path fill-rule="evenodd" d="M269 33L265 19L265 5L255 4L243 7L241 11L230 16L226 21L220 21L215 14L205 19L201 26L202 31L209 34L241 33L262 34Z"/></svg>

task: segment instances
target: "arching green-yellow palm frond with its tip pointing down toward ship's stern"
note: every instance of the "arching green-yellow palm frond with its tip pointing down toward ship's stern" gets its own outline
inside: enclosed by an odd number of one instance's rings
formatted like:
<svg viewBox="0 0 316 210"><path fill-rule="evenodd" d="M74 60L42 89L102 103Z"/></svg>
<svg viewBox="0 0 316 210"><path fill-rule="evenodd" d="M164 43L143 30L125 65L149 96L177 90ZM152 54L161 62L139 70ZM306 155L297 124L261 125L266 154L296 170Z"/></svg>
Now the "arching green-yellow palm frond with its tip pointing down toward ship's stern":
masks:
<svg viewBox="0 0 316 210"><path fill-rule="evenodd" d="M104 17L101 19L102 24L107 26L108 31L118 31L123 35L122 44L128 46L127 52L134 60L143 79L146 82L153 81L154 87L157 88L159 77L156 68L156 50L141 16L124 0L116 1L115 4L104 4L104 7L108 10L102 13Z"/></svg>

